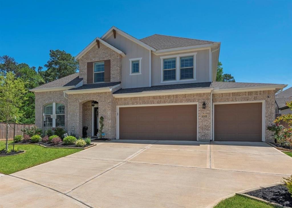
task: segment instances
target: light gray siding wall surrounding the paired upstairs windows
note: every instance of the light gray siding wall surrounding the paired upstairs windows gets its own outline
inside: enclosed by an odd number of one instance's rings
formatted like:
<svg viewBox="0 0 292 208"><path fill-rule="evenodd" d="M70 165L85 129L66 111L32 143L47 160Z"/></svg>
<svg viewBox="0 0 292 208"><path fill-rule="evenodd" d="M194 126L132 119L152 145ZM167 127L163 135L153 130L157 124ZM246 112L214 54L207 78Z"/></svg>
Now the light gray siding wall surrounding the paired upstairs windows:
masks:
<svg viewBox="0 0 292 208"><path fill-rule="evenodd" d="M161 56L172 56L179 54L196 54L196 80L192 81L177 81L177 82L162 82L161 83ZM188 51L183 53L173 53L167 55L157 56L152 53L151 56L151 85L168 85L168 84L183 84L183 83L194 83L194 82L209 82L210 81L210 51L206 50L197 50L197 51ZM179 69L177 69L179 70Z"/></svg>

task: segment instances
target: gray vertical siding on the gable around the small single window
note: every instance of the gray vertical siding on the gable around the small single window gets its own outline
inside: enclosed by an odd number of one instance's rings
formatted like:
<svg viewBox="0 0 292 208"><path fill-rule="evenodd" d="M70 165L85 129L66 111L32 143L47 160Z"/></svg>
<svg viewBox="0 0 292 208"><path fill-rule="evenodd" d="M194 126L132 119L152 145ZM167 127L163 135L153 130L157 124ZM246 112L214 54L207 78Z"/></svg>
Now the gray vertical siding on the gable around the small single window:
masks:
<svg viewBox="0 0 292 208"><path fill-rule="evenodd" d="M122 58L122 88L149 87L149 50L119 33L116 33L116 38L112 34L105 41L126 54ZM142 58L141 74L130 75L131 58Z"/></svg>

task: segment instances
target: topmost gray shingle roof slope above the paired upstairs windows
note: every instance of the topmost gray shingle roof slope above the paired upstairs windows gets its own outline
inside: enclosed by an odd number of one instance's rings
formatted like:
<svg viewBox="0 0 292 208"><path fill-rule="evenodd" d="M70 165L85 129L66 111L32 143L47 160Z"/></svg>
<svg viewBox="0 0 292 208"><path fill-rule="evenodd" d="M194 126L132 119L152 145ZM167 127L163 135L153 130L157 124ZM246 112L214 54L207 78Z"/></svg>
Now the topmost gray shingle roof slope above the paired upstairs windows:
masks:
<svg viewBox="0 0 292 208"><path fill-rule="evenodd" d="M180 38L180 37L158 35L158 34L151 35L146 38L142 38L140 39L140 41L144 42L147 45L150 45L156 50L214 43L213 41L208 41L208 40Z"/></svg>

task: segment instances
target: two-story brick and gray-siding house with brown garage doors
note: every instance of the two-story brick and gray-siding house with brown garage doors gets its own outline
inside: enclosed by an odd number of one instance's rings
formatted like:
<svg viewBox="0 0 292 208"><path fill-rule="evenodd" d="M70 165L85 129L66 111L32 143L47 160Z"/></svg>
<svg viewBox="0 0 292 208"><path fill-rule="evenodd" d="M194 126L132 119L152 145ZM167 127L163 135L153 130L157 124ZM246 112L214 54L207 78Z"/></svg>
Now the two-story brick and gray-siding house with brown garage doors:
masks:
<svg viewBox="0 0 292 208"><path fill-rule="evenodd" d="M216 82L220 42L112 27L75 58L79 73L32 89L36 125L82 136L198 141L272 140L275 93L287 85Z"/></svg>

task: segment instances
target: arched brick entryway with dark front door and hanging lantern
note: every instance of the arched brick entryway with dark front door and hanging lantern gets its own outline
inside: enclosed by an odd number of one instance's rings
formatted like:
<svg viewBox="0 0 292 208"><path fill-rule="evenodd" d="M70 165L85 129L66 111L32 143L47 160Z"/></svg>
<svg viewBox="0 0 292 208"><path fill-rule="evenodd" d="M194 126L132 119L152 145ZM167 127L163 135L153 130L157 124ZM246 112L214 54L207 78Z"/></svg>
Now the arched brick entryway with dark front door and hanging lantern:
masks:
<svg viewBox="0 0 292 208"><path fill-rule="evenodd" d="M98 102L89 100L82 104L82 136L94 137L98 133Z"/></svg>

